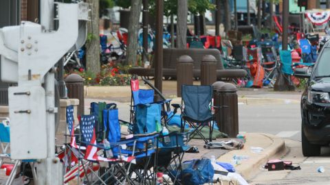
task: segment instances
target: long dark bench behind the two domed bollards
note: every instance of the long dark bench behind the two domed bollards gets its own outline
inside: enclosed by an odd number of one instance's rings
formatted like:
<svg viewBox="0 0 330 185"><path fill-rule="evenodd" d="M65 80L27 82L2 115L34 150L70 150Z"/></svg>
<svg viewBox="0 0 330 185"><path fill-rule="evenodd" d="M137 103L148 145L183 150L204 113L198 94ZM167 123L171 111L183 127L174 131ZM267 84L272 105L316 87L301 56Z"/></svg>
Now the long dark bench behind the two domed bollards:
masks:
<svg viewBox="0 0 330 185"><path fill-rule="evenodd" d="M193 77L200 77L201 59L203 56L212 55L217 59L217 79L232 79L245 77L247 72L243 69L224 69L221 53L218 49L163 49L163 77L177 76L177 58L180 56L190 56L194 61ZM133 67L129 70L130 74L151 77L155 75L155 69L144 69Z"/></svg>

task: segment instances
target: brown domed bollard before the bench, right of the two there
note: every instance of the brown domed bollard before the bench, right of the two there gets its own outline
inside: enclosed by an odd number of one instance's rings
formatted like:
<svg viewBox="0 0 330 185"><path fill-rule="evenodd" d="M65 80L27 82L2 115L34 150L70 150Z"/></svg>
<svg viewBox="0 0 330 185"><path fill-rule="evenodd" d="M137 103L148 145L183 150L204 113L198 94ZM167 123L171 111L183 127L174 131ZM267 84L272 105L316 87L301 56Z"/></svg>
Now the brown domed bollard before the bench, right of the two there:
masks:
<svg viewBox="0 0 330 185"><path fill-rule="evenodd" d="M201 85L210 86L217 81L217 59L212 55L203 56L201 60Z"/></svg>

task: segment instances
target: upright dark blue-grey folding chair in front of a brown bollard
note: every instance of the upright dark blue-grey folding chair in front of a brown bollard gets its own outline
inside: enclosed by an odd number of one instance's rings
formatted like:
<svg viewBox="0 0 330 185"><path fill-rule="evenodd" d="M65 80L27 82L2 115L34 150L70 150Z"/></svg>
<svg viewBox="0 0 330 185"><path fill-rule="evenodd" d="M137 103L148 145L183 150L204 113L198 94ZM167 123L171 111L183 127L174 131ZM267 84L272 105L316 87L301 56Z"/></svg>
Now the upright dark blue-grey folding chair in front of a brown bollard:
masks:
<svg viewBox="0 0 330 185"><path fill-rule="evenodd" d="M214 127L214 115L212 114L212 86L188 86L182 85L181 105L173 104L175 108L181 109L181 132L188 124L192 127L191 139L198 134L208 145L212 142L212 132ZM215 107L216 108L216 107ZM209 140L203 136L201 130L203 127L209 127Z"/></svg>

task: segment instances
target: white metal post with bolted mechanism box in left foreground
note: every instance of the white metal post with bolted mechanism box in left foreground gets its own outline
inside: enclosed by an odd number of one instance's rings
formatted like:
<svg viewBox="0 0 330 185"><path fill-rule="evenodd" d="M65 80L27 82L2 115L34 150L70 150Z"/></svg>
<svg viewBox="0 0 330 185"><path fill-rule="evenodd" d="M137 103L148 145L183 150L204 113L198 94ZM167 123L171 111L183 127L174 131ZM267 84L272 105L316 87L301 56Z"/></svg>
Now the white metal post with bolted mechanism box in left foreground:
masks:
<svg viewBox="0 0 330 185"><path fill-rule="evenodd" d="M9 88L13 160L36 160L36 184L63 184L55 156L54 65L86 39L87 3L41 1L41 25L24 21L0 29L1 76ZM59 27L54 30L54 11Z"/></svg>

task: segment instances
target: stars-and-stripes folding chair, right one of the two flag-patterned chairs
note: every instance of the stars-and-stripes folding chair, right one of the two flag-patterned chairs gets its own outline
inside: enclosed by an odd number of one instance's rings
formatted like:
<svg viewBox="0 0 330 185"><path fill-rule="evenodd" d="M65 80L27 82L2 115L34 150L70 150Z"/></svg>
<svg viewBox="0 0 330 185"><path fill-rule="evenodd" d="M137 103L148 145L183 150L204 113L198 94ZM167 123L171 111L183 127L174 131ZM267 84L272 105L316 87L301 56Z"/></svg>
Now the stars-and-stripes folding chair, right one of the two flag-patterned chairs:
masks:
<svg viewBox="0 0 330 185"><path fill-rule="evenodd" d="M110 143L110 147L105 147L102 143L96 142L96 131L95 125L97 124L96 115L84 115L81 116L80 120L80 132L82 134L82 143L86 145L86 151L84 159L89 162L94 162L96 164L107 163L109 168L107 171L96 173L89 165L84 165L83 168L85 171L90 170L92 175L95 175L95 178L89 175L85 175L85 180L88 184L125 184L126 180L129 180L129 171L131 169L131 164L135 162L135 139L122 140L117 143ZM132 154L126 155L121 152L122 147L132 148ZM118 151L115 151L118 149ZM104 155L107 150L111 150L115 155L106 156Z"/></svg>

